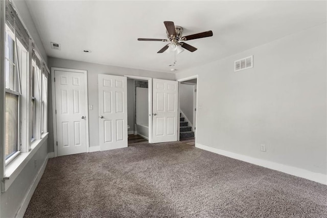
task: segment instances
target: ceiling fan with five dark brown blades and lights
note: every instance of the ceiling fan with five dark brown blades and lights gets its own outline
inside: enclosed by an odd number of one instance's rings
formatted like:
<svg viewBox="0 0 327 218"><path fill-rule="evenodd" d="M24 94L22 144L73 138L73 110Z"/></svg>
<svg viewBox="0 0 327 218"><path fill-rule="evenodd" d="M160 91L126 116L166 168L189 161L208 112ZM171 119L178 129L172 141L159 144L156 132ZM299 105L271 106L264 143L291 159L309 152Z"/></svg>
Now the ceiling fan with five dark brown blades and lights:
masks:
<svg viewBox="0 0 327 218"><path fill-rule="evenodd" d="M183 51L182 48L189 50L190 52L194 52L197 48L185 43L184 41L204 38L213 36L213 31L209 30L202 33L196 33L188 36L182 36L183 28L180 26L175 26L173 21L164 21L164 24L167 29L167 37L168 39L156 39L156 38L138 38L138 41L170 41L164 48L160 49L157 53L162 53L169 49L170 51L177 51L179 54ZM182 47L182 48L181 48Z"/></svg>

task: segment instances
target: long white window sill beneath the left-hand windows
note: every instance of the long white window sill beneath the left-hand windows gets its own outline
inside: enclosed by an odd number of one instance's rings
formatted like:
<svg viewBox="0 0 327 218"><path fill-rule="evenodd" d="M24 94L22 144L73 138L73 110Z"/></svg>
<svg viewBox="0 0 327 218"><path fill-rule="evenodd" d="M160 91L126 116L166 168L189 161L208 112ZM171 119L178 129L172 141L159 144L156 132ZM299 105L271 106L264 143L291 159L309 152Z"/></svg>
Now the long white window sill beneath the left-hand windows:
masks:
<svg viewBox="0 0 327 218"><path fill-rule="evenodd" d="M48 133L42 134L42 138L33 141L31 144L31 150L29 152L20 153L14 160L12 160L5 168L5 176L3 178L2 192L8 190L10 185L15 181L19 173L26 166L26 164L32 159L38 148L48 138Z"/></svg>

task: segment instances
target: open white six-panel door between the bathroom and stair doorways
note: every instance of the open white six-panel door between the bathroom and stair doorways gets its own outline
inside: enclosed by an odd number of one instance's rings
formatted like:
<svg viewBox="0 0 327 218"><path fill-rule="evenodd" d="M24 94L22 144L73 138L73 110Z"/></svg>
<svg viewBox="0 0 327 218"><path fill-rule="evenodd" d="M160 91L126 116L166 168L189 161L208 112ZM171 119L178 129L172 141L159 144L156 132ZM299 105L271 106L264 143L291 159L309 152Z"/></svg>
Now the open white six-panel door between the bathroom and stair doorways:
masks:
<svg viewBox="0 0 327 218"><path fill-rule="evenodd" d="M177 141L178 82L153 79L152 142Z"/></svg>

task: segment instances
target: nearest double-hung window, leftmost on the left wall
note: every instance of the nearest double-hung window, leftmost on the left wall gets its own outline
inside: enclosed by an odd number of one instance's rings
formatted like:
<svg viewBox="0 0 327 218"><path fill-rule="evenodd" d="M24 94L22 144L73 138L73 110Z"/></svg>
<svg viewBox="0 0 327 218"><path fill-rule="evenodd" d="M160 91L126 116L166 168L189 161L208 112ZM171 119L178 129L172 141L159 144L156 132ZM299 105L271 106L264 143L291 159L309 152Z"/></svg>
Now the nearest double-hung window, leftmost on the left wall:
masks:
<svg viewBox="0 0 327 218"><path fill-rule="evenodd" d="M5 159L10 162L19 154L19 100L18 72L16 68L16 43L13 32L6 26L6 94L5 94Z"/></svg>

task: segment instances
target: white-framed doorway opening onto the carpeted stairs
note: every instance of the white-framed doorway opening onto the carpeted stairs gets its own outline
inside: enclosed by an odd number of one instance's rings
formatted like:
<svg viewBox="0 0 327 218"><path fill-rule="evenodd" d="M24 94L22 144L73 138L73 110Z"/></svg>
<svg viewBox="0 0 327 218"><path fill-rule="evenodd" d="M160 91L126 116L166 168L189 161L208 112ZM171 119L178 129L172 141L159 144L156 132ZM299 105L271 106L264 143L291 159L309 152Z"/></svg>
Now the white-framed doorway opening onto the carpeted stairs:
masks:
<svg viewBox="0 0 327 218"><path fill-rule="evenodd" d="M179 81L179 141L195 145L197 76Z"/></svg>

